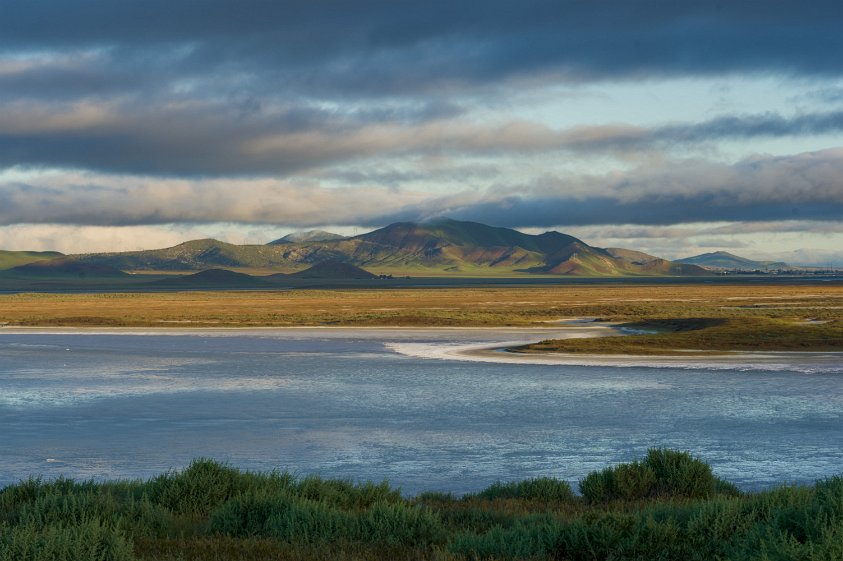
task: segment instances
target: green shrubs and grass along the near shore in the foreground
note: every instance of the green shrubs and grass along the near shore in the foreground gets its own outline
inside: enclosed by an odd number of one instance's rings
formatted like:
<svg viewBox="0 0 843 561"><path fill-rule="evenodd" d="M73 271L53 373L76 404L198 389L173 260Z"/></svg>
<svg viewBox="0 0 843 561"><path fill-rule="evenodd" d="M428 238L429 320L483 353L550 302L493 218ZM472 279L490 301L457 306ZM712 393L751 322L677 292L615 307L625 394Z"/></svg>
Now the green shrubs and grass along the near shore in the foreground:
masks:
<svg viewBox="0 0 843 561"><path fill-rule="evenodd" d="M207 459L0 490L0 561L840 559L843 478L742 493L685 452L454 497Z"/></svg>

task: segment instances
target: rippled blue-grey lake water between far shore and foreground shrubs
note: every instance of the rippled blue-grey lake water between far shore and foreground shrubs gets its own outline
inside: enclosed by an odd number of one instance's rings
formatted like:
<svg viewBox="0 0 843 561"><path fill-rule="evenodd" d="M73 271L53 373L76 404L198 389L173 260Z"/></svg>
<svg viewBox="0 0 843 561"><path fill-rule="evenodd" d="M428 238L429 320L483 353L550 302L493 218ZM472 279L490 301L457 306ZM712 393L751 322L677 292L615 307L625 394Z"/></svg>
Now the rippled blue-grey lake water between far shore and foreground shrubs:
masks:
<svg viewBox="0 0 843 561"><path fill-rule="evenodd" d="M622 368L436 352L546 336L0 331L0 486L149 477L204 456L462 493L541 475L576 482L651 446L690 450L743 488L843 473L834 360Z"/></svg>

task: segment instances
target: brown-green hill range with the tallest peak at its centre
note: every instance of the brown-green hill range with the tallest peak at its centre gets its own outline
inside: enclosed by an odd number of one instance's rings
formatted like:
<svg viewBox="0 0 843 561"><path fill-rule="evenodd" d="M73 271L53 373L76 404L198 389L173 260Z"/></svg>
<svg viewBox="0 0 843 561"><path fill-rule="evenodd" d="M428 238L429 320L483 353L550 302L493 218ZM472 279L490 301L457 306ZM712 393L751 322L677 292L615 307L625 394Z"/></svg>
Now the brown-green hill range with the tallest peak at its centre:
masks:
<svg viewBox="0 0 843 561"><path fill-rule="evenodd" d="M613 253L614 251L614 253ZM623 253L623 252L627 253ZM642 258L641 256L644 256ZM351 238L233 245L196 240L151 251L76 255L75 260L122 270L198 271L211 268L295 272L323 261L405 274L579 276L705 275L629 250L606 250L559 232L531 235L477 222L440 219L398 222Z"/></svg>

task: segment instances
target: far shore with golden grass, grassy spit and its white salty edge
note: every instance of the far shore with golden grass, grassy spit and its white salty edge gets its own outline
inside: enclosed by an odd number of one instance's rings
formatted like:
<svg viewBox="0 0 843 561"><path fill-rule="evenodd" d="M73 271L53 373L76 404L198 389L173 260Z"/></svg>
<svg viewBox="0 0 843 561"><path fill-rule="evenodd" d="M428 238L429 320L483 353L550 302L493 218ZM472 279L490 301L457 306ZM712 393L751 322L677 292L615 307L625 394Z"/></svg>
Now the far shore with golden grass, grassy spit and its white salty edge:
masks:
<svg viewBox="0 0 843 561"><path fill-rule="evenodd" d="M399 350L419 356L536 364L840 362L843 286L20 294L0 296L0 333L361 334L420 343Z"/></svg>

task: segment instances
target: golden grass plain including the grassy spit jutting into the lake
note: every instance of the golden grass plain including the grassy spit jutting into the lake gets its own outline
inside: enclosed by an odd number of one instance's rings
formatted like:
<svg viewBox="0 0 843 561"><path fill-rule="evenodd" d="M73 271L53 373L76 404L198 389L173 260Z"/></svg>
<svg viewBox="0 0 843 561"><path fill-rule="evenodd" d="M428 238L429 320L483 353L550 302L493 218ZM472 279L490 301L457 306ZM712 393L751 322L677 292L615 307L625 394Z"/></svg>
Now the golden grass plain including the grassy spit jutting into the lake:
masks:
<svg viewBox="0 0 843 561"><path fill-rule="evenodd" d="M544 343L533 350L664 354L843 350L843 286L592 285L0 296L0 325L73 327L538 326L564 318L664 331ZM699 322L709 318L718 322ZM702 328L702 329L701 329ZM607 346L609 345L609 346ZM688 347L687 345L691 345ZM529 349L528 349L529 350Z"/></svg>

